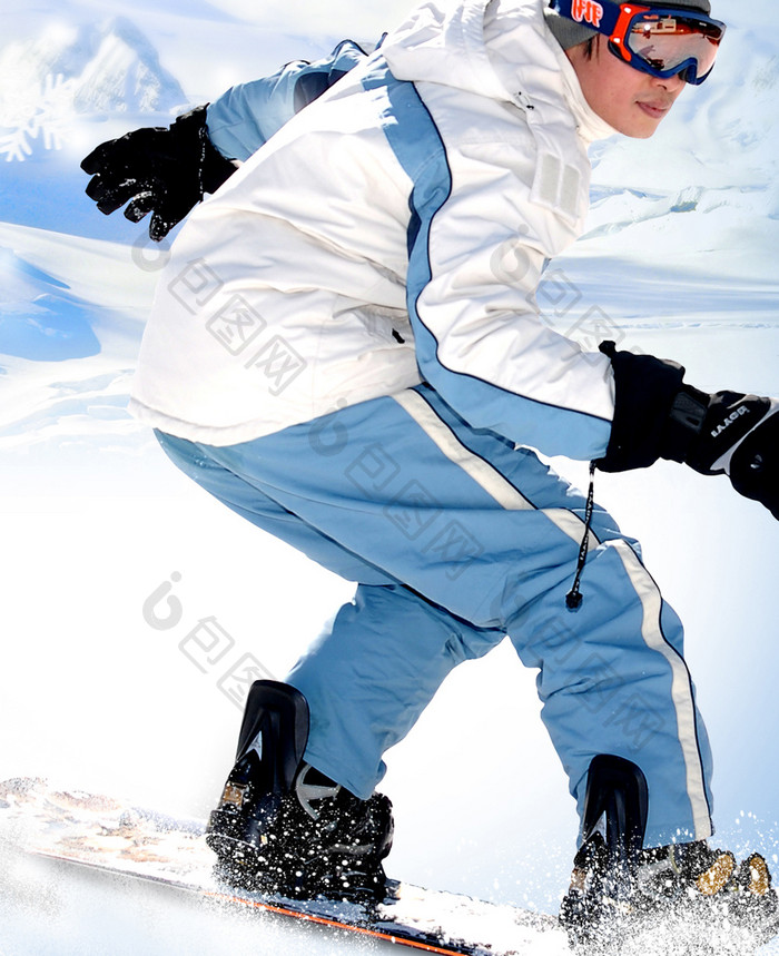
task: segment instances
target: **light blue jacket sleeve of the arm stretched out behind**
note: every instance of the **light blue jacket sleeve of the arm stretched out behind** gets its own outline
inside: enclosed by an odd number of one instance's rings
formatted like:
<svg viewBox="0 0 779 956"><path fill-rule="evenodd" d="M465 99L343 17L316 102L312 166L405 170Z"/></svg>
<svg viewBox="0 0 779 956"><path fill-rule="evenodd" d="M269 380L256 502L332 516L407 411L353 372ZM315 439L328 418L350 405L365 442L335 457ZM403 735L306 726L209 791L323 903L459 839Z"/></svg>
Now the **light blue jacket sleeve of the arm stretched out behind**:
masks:
<svg viewBox="0 0 779 956"><path fill-rule="evenodd" d="M248 159L365 57L356 43L344 40L329 56L313 63L296 60L273 76L233 87L208 106L211 142L227 159Z"/></svg>

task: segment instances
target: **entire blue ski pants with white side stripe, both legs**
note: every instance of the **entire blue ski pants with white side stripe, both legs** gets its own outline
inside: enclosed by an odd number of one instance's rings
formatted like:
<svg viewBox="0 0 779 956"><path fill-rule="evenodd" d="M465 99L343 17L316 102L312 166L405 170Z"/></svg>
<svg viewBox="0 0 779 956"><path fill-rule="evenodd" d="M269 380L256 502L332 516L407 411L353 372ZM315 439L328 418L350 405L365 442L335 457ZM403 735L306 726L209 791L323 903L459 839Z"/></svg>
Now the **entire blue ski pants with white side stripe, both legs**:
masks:
<svg viewBox="0 0 779 956"><path fill-rule="evenodd" d="M533 452L470 427L424 385L227 447L158 438L234 511L358 582L287 679L308 700L317 769L367 798L450 671L507 634L539 670L580 814L590 761L613 753L647 777L648 846L711 835L679 619L599 507L584 600L568 610L585 502Z"/></svg>

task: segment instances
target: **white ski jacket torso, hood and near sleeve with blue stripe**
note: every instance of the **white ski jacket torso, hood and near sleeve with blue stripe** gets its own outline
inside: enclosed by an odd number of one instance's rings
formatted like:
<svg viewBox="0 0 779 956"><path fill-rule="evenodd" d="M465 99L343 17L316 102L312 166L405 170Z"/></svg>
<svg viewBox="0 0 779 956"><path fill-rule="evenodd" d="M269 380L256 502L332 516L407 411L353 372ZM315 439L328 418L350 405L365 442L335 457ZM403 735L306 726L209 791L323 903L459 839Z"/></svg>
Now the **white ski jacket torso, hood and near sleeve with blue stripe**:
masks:
<svg viewBox="0 0 779 956"><path fill-rule="evenodd" d="M209 132L230 155L241 97L223 99ZM541 0L431 0L191 214L134 413L228 445L425 381L474 427L603 455L610 359L544 324L534 290L612 134Z"/></svg>

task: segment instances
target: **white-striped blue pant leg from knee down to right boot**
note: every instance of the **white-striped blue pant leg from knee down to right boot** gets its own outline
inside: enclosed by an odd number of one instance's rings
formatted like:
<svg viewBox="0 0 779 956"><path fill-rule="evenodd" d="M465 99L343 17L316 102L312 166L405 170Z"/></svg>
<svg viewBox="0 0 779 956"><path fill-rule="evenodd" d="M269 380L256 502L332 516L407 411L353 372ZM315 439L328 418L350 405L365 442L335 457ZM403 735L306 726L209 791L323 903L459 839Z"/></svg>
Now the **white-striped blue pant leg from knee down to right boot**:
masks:
<svg viewBox="0 0 779 956"><path fill-rule="evenodd" d="M542 719L580 815L590 760L615 753L648 778L647 846L708 837L711 752L679 619L623 541L599 546L582 580L575 614L560 612L561 588L509 624L523 663L539 668Z"/></svg>

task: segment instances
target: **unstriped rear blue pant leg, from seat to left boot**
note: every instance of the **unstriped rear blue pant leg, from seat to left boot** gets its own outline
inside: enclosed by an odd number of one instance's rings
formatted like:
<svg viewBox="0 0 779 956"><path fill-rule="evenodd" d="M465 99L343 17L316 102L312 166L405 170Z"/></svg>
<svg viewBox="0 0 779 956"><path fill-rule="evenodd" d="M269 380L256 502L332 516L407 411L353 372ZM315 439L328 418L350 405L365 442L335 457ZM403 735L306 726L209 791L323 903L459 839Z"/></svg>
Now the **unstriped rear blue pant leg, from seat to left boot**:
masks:
<svg viewBox="0 0 779 956"><path fill-rule="evenodd" d="M504 631L472 628L300 521L191 442L159 433L187 475L253 524L336 574L361 581L332 628L287 682L310 710L305 759L367 799L385 773L383 753L405 737L450 671L485 654Z"/></svg>

